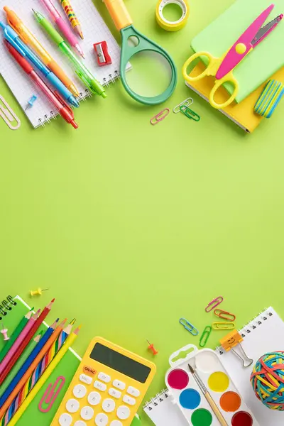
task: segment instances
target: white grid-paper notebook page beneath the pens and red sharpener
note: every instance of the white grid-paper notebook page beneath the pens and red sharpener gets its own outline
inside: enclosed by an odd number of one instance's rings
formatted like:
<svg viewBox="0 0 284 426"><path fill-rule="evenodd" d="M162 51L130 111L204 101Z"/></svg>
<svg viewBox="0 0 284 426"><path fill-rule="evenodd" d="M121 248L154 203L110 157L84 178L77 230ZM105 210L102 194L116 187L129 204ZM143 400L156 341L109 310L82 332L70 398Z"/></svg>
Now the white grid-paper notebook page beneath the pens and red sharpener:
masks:
<svg viewBox="0 0 284 426"><path fill-rule="evenodd" d="M68 23L69 21L65 16L65 13L60 5L60 0L53 0L56 9L60 12L60 15ZM3 11L3 7L8 6L9 9L16 12L19 18L23 21L26 27L35 35L40 41L43 47L50 53L50 55L58 62L58 65L66 72L68 77L71 78L72 82L75 82L79 92L82 93L82 99L89 96L89 91L86 89L82 82L75 75L72 65L68 58L60 53L55 43L48 38L48 35L44 32L43 28L40 28L38 23L35 22L33 17L32 9L43 13L43 16L48 18L51 22L50 15L45 7L41 4L40 0L0 0L0 19L4 23L6 21L6 13ZM99 80L101 84L107 84L112 82L114 78L119 77L119 64L120 64L120 48L116 43L114 36L109 31L106 23L100 16L99 12L95 8L92 0L72 0L72 6L77 14L82 25L82 31L84 33L84 40L78 38L78 42L82 50L84 51L85 60L84 64L92 72L94 77ZM58 29L58 28L57 28ZM106 65L105 67L99 67L97 65L97 58L94 52L94 43L99 43L103 40L107 41L109 47L109 54L111 55L112 64ZM21 70L16 61L6 51L3 43L3 35L1 31L1 43L0 43L0 73L6 80L6 83L10 87L14 96L18 100L23 110L26 109L28 99L35 94L38 99L35 101L33 108L26 111L28 119L33 124L33 127L40 126L40 123L48 121L57 114L54 107L45 95L38 89L37 86L29 79L29 77ZM130 67L130 65L129 65ZM38 70L35 69L36 72ZM38 72L40 75L40 72ZM40 75L40 77L43 77ZM48 84L50 86L50 84ZM54 89L53 87L50 87ZM97 97L97 102L104 102L104 99ZM76 110L76 109L75 109ZM53 112L51 112L53 111Z"/></svg>

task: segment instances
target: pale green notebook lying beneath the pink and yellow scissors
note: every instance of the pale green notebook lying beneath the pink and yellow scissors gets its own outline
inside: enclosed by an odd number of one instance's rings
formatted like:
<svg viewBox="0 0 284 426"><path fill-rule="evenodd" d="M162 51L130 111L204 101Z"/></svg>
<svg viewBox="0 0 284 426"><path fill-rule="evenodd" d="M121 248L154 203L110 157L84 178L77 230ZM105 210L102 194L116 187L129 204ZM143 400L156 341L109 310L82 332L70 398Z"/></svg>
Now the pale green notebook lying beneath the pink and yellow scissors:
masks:
<svg viewBox="0 0 284 426"><path fill-rule="evenodd" d="M192 40L195 52L207 51L221 57L238 40L240 35L271 4L275 4L268 21L284 13L284 0L236 0L219 18ZM234 69L239 82L236 102L241 102L284 65L284 21L280 22ZM226 86L232 92L230 86Z"/></svg>

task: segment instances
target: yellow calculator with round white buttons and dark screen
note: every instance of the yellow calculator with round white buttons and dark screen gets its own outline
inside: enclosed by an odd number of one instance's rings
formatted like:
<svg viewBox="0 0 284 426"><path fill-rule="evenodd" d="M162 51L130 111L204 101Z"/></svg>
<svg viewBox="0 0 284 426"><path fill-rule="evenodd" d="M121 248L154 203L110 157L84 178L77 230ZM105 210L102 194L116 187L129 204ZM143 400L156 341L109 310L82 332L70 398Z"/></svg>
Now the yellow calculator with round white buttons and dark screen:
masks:
<svg viewBox="0 0 284 426"><path fill-rule="evenodd" d="M89 344L50 426L129 426L155 364L102 337Z"/></svg>

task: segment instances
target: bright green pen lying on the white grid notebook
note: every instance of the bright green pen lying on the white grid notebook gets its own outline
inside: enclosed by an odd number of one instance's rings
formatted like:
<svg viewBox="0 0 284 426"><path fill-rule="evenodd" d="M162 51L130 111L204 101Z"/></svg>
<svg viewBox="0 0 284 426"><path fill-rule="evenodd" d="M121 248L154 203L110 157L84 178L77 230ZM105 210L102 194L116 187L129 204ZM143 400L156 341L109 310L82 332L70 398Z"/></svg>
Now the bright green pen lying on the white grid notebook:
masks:
<svg viewBox="0 0 284 426"><path fill-rule="evenodd" d="M72 52L69 45L62 38L60 33L55 30L53 25L46 19L41 13L35 12L33 10L36 21L42 26L45 31L50 35L50 38L58 45L58 48L61 50L64 55L67 56L75 66L75 71L80 80L91 90L93 93L97 93L103 98L107 97L106 92L104 91L104 87L100 84L92 75L91 72L84 66L83 62L77 58L77 56Z"/></svg>

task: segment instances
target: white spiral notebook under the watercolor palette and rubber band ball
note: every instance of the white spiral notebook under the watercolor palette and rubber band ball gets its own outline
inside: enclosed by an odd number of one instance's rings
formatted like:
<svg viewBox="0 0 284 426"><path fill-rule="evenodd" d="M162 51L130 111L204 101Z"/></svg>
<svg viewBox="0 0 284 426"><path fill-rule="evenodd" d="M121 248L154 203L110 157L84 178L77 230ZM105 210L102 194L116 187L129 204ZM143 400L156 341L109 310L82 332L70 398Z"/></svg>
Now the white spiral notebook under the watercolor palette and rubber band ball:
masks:
<svg viewBox="0 0 284 426"><path fill-rule="evenodd" d="M242 347L256 362L267 352L284 350L284 322L273 307L261 312L240 331L244 339ZM237 350L237 349L236 349ZM231 376L246 405L256 416L260 426L283 426L284 413L266 408L254 395L249 378L252 368L244 368L231 352L216 349L222 364ZM155 426L188 426L177 405L173 404L168 389L159 393L146 403L144 411Z"/></svg>

